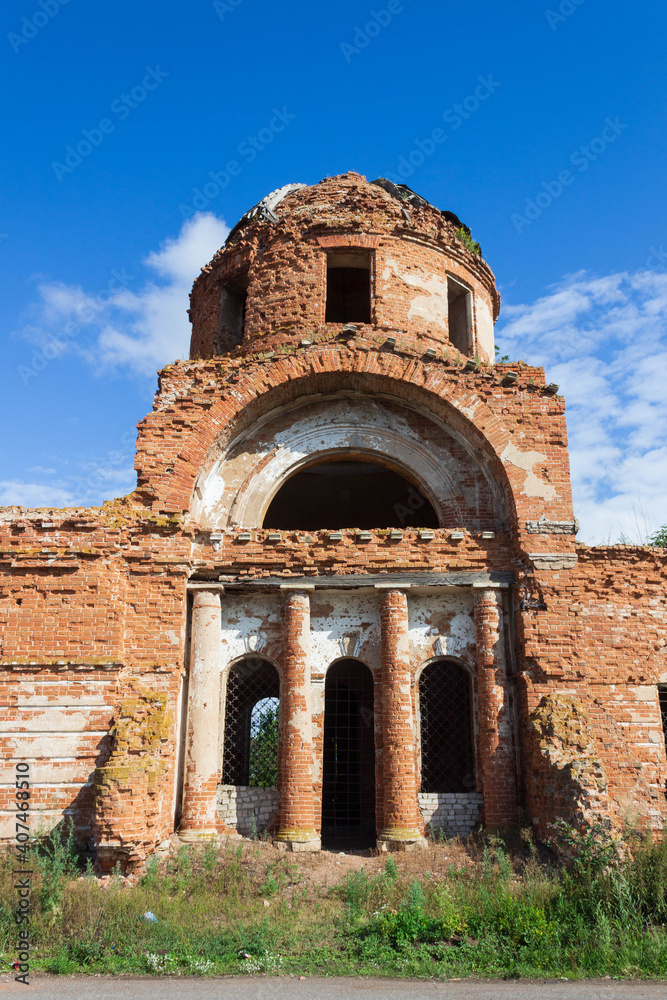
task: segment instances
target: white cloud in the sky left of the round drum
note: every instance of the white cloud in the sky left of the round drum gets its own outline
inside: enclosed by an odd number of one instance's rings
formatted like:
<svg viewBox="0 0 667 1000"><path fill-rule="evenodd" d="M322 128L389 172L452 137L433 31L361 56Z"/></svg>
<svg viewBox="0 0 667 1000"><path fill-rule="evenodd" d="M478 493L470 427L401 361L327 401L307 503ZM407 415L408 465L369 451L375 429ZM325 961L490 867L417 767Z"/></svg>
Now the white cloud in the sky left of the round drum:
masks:
<svg viewBox="0 0 667 1000"><path fill-rule="evenodd" d="M144 265L155 277L138 290L124 269L96 293L44 282L18 336L35 344L47 362L76 351L95 370L127 367L153 377L157 368L188 356L188 294L228 232L215 215L195 215L175 239L146 257Z"/></svg>

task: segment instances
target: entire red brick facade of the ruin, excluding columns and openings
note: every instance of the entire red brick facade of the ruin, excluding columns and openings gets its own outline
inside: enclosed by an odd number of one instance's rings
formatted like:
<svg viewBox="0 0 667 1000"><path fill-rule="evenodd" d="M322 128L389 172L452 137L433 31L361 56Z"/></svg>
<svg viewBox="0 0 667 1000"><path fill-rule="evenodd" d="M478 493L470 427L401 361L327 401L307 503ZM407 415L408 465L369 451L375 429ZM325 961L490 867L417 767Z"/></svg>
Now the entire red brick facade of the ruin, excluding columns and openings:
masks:
<svg viewBox="0 0 667 1000"><path fill-rule="evenodd" d="M564 402L547 390L543 371L465 370L451 351L447 356L440 334L407 316L401 283L393 272L385 275L386 258L428 270L438 247L446 270L465 272L497 309L491 272L440 213L410 208L412 229L406 229L400 203L358 175L294 192L279 208L279 223L242 227L195 284L193 354L208 355L218 331L220 284L248 269L254 297L247 342L231 356L177 362L161 372L153 411L139 425L137 491L95 510L11 508L0 515L0 742L10 770L13 755L32 747L35 802L48 811L45 820L71 807L80 839L97 831L98 840L118 841L126 857L139 859L174 825L190 577L511 572L507 669L518 713L520 798L529 818L545 832L555 802L579 809L590 782L572 770L573 748L590 726L586 760L593 769L599 762L595 781L604 786L609 814L619 824L659 828L667 779L657 702L657 684L667 683L664 552L575 545ZM341 239L373 248L378 293L378 321L346 342L323 328L322 255ZM392 325L407 330L390 349L384 341ZM302 339L312 344L302 346ZM435 359L424 356L431 342ZM190 514L202 470L260 418L270 427L278 408L341 390L389 396L440 420L495 484L504 529L486 539L466 530L460 541L444 527L431 540L414 530L401 540L374 531L367 542L352 531L340 542L328 532L283 532L270 541L262 529L242 541L238 530L225 529L214 544ZM170 719L150 751L157 761L150 774L138 763L148 753L123 749L118 738L128 692L137 686L164 695ZM544 702L554 695L575 701L554 708ZM376 701L379 707L380 691ZM539 726L548 728L559 712L560 757L545 751L539 735ZM49 764L51 758L59 761ZM116 770L105 772L107 766ZM5 767L5 836L8 774ZM499 801L505 791L495 790ZM380 828L382 794L380 782ZM137 824L137 817L145 822Z"/></svg>

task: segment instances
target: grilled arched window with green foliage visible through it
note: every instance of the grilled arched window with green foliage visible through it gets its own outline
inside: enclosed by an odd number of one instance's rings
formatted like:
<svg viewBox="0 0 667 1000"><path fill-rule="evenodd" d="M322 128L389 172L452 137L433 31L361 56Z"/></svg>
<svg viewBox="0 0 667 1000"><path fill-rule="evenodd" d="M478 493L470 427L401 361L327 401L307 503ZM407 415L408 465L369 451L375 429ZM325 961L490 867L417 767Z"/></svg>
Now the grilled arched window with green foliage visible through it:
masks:
<svg viewBox="0 0 667 1000"><path fill-rule="evenodd" d="M222 782L278 784L280 679L266 660L249 657L229 672L225 699Z"/></svg>

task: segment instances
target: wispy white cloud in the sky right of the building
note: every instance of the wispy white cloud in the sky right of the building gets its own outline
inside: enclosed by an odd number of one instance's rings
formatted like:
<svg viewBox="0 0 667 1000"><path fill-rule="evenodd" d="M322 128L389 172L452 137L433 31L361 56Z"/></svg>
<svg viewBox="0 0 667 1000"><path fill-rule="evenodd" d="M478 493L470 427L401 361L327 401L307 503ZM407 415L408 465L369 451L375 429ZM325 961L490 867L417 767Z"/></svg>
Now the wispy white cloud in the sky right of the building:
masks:
<svg viewBox="0 0 667 1000"><path fill-rule="evenodd" d="M639 543L667 523L667 274L568 275L504 306L497 340L565 396L579 538Z"/></svg>

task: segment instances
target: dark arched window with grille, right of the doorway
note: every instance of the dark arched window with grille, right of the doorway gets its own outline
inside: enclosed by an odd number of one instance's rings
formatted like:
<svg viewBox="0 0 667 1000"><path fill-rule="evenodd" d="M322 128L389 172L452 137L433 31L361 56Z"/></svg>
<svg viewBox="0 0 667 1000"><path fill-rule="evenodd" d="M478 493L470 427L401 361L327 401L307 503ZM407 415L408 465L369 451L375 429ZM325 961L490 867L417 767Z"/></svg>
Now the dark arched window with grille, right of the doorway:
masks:
<svg viewBox="0 0 667 1000"><path fill-rule="evenodd" d="M419 678L422 792L473 792L472 685L452 660L436 660Z"/></svg>

